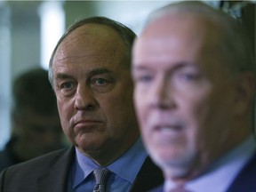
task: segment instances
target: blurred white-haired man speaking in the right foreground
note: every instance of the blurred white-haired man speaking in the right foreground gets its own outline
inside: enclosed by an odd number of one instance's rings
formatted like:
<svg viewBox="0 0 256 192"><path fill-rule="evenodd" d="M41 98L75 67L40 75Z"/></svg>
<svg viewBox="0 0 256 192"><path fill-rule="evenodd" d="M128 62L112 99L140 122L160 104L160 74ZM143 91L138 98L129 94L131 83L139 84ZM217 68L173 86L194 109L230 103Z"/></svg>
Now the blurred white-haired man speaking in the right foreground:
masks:
<svg viewBox="0 0 256 192"><path fill-rule="evenodd" d="M255 63L241 24L200 2L152 13L134 43L135 108L164 172L153 191L255 192Z"/></svg>

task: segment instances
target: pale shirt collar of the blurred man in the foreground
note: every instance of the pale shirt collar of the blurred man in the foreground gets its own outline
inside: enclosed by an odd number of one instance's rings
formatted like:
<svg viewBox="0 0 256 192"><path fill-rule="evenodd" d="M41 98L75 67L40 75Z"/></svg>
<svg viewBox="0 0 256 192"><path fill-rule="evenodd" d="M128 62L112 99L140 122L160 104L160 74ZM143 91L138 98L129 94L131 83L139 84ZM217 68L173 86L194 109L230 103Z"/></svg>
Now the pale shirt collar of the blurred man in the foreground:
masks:
<svg viewBox="0 0 256 192"><path fill-rule="evenodd" d="M202 176L190 180L185 188L196 192L220 192L226 191L235 180L236 175L241 171L256 150L256 141L252 136L241 145L230 151L226 156L220 157ZM209 188L214 186L214 188ZM175 188L172 180L164 181L164 191Z"/></svg>

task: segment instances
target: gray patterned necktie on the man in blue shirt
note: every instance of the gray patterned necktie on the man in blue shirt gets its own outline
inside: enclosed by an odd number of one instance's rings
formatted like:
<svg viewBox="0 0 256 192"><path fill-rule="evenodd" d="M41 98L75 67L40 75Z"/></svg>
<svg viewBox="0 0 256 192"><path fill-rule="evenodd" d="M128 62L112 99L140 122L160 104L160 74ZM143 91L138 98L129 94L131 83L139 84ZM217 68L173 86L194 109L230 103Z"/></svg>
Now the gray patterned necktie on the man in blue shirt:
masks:
<svg viewBox="0 0 256 192"><path fill-rule="evenodd" d="M107 187L108 177L111 172L107 168L99 168L93 171L96 185L93 192L105 192Z"/></svg>

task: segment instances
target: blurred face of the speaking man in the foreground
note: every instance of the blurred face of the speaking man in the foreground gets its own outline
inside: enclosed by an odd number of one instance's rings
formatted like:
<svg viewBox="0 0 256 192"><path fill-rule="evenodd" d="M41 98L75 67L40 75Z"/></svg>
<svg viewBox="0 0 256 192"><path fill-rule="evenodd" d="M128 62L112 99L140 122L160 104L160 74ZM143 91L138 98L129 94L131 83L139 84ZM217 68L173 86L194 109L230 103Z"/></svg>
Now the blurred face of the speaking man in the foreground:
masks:
<svg viewBox="0 0 256 192"><path fill-rule="evenodd" d="M235 89L217 44L218 28L180 16L151 23L133 47L143 140L174 178L209 164L228 142Z"/></svg>

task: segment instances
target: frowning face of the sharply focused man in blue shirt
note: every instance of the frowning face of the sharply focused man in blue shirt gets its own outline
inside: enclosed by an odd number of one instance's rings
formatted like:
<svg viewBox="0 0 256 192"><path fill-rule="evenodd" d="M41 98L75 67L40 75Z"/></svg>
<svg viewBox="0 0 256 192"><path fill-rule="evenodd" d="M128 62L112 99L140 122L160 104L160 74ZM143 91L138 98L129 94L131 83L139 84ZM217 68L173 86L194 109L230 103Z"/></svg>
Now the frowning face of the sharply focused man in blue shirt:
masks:
<svg viewBox="0 0 256 192"><path fill-rule="evenodd" d="M132 77L124 62L116 32L92 24L76 28L54 56L61 125L87 156L119 156L138 138Z"/></svg>

